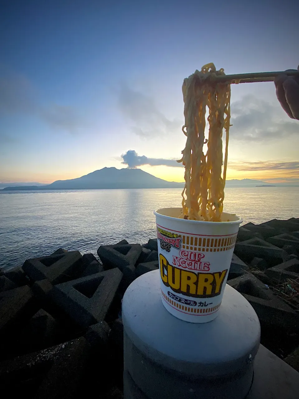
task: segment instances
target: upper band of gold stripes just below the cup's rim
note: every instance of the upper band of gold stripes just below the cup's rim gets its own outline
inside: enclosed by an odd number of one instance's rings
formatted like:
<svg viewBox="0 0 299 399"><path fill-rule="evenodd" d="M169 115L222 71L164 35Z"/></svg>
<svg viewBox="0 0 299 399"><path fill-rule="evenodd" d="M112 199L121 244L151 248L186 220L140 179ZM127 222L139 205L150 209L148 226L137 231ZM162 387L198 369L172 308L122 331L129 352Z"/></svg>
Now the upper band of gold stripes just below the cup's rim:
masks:
<svg viewBox="0 0 299 399"><path fill-rule="evenodd" d="M182 234L182 248L199 252L222 252L233 249L237 235L226 237L193 237L192 235Z"/></svg>

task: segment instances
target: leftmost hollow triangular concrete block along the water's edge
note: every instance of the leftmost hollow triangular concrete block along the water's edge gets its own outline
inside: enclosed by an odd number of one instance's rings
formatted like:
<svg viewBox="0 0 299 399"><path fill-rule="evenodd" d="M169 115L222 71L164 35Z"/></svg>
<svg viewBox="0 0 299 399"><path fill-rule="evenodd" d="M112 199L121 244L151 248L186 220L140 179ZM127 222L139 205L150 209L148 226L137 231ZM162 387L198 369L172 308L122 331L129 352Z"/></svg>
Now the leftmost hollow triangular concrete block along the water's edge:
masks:
<svg viewBox="0 0 299 399"><path fill-rule="evenodd" d="M58 284L72 279L80 258L79 251L70 251L61 255L27 259L23 270L33 281L48 279L52 284Z"/></svg>

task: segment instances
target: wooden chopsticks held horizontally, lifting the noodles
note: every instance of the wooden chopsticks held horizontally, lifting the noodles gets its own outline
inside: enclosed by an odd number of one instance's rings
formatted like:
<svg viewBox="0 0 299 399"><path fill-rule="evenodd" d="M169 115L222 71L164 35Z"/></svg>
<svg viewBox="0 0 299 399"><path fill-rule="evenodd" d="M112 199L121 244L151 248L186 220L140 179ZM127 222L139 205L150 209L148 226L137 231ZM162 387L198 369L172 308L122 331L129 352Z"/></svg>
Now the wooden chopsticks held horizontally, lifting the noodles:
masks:
<svg viewBox="0 0 299 399"><path fill-rule="evenodd" d="M252 82L273 82L278 75L296 76L299 78L299 71L278 71L278 72L254 72L236 73L234 75L212 75L211 81L217 83L252 83Z"/></svg>

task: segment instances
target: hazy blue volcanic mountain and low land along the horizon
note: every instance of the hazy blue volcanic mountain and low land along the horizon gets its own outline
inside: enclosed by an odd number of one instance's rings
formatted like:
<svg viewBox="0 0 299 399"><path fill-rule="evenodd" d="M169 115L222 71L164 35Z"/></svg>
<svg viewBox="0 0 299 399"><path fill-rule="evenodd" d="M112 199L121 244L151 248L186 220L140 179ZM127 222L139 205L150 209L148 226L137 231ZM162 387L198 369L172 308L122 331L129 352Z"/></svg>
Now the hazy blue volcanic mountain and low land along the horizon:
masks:
<svg viewBox="0 0 299 399"><path fill-rule="evenodd" d="M56 180L51 184L42 183L0 183L1 191L16 190L91 190L111 188L183 188L184 182L167 182L142 169L102 168L87 175L69 180ZM226 180L226 188L276 187L261 180Z"/></svg>

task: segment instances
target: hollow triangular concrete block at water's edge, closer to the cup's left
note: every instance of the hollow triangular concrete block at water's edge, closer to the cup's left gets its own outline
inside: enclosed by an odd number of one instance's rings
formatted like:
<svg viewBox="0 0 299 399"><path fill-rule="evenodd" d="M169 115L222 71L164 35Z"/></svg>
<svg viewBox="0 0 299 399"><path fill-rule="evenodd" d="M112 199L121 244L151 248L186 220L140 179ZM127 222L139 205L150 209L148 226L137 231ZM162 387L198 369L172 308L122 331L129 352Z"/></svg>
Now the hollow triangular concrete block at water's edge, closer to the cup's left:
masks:
<svg viewBox="0 0 299 399"><path fill-rule="evenodd" d="M97 252L105 270L118 267L124 273L126 266L136 265L142 248L139 244L102 245Z"/></svg>

